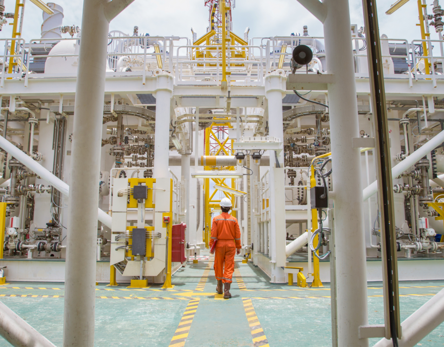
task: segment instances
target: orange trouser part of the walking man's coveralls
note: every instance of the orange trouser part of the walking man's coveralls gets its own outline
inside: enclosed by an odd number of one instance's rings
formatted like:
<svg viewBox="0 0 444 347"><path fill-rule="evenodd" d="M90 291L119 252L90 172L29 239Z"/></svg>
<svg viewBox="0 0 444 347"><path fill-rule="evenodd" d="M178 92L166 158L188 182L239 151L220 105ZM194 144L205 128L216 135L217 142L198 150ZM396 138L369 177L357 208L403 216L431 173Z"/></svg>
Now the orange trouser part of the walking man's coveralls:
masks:
<svg viewBox="0 0 444 347"><path fill-rule="evenodd" d="M234 256L236 245L234 240L217 240L214 252L214 273L216 279L223 283L231 283L234 272Z"/></svg>

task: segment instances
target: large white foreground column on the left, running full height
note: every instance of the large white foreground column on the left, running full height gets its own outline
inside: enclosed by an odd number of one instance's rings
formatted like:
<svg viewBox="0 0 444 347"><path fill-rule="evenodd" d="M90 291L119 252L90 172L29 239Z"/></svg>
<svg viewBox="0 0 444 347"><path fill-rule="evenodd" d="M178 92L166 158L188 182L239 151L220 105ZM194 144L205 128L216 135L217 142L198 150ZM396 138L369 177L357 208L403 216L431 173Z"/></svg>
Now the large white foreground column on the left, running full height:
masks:
<svg viewBox="0 0 444 347"><path fill-rule="evenodd" d="M132 0L85 0L66 242L63 346L94 346L97 211L109 22Z"/></svg>

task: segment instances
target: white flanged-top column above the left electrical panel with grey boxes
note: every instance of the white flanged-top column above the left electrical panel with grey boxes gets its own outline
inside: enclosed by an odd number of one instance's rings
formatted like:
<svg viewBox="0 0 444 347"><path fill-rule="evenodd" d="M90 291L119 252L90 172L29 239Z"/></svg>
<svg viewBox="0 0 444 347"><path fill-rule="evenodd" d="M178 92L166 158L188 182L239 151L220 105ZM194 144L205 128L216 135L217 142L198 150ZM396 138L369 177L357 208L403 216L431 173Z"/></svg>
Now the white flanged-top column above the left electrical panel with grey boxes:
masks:
<svg viewBox="0 0 444 347"><path fill-rule="evenodd" d="M157 76L155 97L154 169L153 178L166 178L168 175L170 103L173 90L169 74Z"/></svg>

